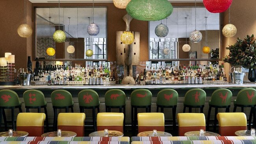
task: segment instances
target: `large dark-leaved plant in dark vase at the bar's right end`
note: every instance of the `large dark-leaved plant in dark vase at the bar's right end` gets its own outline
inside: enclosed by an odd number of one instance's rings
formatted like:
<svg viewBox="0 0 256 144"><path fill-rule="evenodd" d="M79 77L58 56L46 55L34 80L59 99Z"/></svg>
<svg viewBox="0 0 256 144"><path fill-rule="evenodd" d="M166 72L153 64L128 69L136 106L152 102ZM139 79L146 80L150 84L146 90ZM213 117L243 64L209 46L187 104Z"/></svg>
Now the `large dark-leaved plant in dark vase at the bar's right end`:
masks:
<svg viewBox="0 0 256 144"><path fill-rule="evenodd" d="M249 69L248 79L256 81L256 39L254 35L245 37L245 39L237 38L232 46L227 47L230 50L229 55L224 58L224 62L233 66L243 66Z"/></svg>

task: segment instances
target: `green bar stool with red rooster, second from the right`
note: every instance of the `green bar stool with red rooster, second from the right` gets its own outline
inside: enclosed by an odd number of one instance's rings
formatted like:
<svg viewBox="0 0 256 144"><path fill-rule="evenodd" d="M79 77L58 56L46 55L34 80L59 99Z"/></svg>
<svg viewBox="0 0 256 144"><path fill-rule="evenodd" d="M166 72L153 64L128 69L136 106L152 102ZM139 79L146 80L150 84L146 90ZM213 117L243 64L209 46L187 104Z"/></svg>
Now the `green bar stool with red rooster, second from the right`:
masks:
<svg viewBox="0 0 256 144"><path fill-rule="evenodd" d="M210 125L211 107L215 108L213 130L216 131L218 108L225 108L226 113L229 113L231 98L232 98L232 92L228 89L217 89L211 94L211 100L209 101L209 110L208 110L207 124L206 124L207 130L209 130L209 125Z"/></svg>

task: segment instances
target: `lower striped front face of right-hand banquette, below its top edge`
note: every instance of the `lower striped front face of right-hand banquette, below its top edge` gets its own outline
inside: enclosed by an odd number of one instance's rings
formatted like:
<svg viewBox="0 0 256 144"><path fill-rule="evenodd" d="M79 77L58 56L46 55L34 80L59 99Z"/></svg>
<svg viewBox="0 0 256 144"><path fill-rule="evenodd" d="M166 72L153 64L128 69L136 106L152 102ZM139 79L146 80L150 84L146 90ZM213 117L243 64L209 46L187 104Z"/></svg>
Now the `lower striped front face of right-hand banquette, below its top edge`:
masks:
<svg viewBox="0 0 256 144"><path fill-rule="evenodd" d="M133 141L131 144L255 144L256 140Z"/></svg>

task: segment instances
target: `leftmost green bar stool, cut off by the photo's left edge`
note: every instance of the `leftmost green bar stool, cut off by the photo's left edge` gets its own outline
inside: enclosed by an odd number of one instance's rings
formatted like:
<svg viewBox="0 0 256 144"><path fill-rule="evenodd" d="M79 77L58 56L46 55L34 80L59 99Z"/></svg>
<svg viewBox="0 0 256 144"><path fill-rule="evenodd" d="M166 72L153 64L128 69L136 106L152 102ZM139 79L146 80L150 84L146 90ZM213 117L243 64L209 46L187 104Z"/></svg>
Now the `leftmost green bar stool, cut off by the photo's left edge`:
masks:
<svg viewBox="0 0 256 144"><path fill-rule="evenodd" d="M18 108L20 113L22 113L21 102L19 100L18 94L13 90L0 90L0 121L2 121L2 116L4 118L5 130L7 131L7 120L5 109L11 109L11 122L12 129L15 130L15 120L14 120L14 109ZM0 122L1 126L1 122Z"/></svg>

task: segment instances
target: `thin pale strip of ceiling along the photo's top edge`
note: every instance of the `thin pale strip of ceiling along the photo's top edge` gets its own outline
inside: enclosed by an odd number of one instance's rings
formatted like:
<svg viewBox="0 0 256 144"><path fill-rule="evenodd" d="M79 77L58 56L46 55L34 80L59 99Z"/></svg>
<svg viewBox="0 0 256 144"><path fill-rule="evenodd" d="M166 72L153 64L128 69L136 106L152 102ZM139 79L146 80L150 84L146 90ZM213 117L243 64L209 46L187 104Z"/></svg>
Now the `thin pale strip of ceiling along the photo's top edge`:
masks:
<svg viewBox="0 0 256 144"><path fill-rule="evenodd" d="M58 0L29 0L32 3L57 3ZM93 0L60 0L61 3L86 3L92 2ZM196 0L202 2L202 0ZM113 0L94 0L97 3L111 3ZM169 0L169 2L195 2L195 0Z"/></svg>

